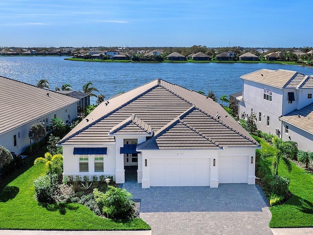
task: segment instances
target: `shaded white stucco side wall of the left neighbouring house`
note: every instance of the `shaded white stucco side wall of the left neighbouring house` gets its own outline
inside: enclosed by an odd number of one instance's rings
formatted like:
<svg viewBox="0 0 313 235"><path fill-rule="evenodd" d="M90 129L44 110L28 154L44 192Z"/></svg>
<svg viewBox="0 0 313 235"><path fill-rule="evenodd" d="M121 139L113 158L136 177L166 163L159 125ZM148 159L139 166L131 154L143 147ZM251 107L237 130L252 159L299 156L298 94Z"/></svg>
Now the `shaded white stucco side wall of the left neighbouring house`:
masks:
<svg viewBox="0 0 313 235"><path fill-rule="evenodd" d="M65 113L65 110L67 109L67 113ZM48 125L51 124L52 118L54 118L54 114L57 115L57 118L62 119L64 122L67 120L71 122L75 118L77 118L77 104L76 102L70 105L67 105L66 107L56 110L55 112L49 113L45 116L42 116L41 118L34 119L28 123L25 123L17 128L11 129L10 131L7 131L0 135L0 145L7 148L10 152L14 152L15 154L21 154L25 151L26 147L29 146L30 141L28 138L28 132L32 125L41 123L43 124L43 120L46 120L48 118ZM70 116L68 118L68 115ZM45 126L46 126L45 121ZM20 137L19 137L20 133ZM14 135L17 136L17 146L14 146ZM34 141L32 141L34 143Z"/></svg>

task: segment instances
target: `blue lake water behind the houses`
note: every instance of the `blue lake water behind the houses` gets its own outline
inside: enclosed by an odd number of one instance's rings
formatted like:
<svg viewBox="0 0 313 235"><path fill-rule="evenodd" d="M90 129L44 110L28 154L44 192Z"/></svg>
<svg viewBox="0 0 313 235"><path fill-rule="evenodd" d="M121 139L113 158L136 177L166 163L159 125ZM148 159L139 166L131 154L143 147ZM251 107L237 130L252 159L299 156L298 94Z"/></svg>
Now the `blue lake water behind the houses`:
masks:
<svg viewBox="0 0 313 235"><path fill-rule="evenodd" d="M125 92L144 83L164 79L185 88L213 90L217 97L242 90L241 75L260 69L284 69L313 74L313 68L279 64L227 63L99 63L67 61L66 57L3 57L0 56L0 75L37 85L47 79L51 90L70 84L73 90L82 90L92 82L106 98ZM95 102L92 99L91 102Z"/></svg>

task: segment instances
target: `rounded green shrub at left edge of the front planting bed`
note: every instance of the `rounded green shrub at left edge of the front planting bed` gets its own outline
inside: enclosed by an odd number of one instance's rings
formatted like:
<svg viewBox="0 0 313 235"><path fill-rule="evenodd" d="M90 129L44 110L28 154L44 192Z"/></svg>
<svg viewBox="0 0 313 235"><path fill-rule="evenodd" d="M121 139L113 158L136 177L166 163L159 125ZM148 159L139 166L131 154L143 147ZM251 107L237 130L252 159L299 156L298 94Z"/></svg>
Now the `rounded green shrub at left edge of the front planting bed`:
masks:
<svg viewBox="0 0 313 235"><path fill-rule="evenodd" d="M54 192L58 186L58 175L52 175L52 184L50 176L39 176L34 181L37 201L45 203L55 203Z"/></svg>

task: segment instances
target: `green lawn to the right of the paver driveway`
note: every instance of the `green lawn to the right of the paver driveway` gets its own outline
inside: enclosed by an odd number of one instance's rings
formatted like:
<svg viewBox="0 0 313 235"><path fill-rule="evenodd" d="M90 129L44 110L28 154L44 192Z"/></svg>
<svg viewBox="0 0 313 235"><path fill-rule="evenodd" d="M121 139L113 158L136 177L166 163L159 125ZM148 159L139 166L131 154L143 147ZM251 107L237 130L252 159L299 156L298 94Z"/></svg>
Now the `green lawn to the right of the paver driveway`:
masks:
<svg viewBox="0 0 313 235"><path fill-rule="evenodd" d="M264 140L254 137L262 145L262 151L274 152L274 149ZM258 150L259 151L259 150ZM272 158L267 158L263 164L271 167ZM284 162L279 163L278 174L290 179L289 190L292 197L281 205L270 207L272 218L270 228L313 227L313 174L292 163L291 173Z"/></svg>

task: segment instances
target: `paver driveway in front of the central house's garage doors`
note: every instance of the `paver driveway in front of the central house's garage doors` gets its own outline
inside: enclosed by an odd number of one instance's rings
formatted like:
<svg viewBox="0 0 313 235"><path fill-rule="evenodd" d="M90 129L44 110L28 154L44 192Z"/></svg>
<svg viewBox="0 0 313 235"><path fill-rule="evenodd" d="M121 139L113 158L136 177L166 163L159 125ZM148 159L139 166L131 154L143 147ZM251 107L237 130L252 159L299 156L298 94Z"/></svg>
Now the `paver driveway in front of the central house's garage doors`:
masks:
<svg viewBox="0 0 313 235"><path fill-rule="evenodd" d="M128 181L122 188L141 199L140 217L153 235L272 235L270 211L254 185L141 188Z"/></svg>

